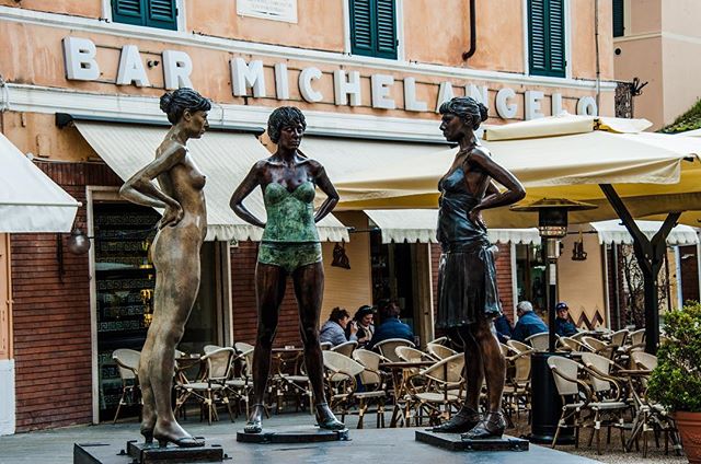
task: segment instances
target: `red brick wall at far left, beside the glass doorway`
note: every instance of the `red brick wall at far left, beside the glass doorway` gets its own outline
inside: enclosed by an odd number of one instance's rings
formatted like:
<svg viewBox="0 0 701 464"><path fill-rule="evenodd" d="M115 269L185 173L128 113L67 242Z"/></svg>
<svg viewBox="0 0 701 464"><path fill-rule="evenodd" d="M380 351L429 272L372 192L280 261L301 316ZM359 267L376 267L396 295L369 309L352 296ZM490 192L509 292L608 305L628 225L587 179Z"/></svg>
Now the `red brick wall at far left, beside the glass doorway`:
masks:
<svg viewBox="0 0 701 464"><path fill-rule="evenodd" d="M83 207L76 223L85 231L85 185L119 185L102 164L37 165ZM88 255L64 244L62 279L57 235L12 234L12 298L16 378L16 430L92 420L90 287Z"/></svg>

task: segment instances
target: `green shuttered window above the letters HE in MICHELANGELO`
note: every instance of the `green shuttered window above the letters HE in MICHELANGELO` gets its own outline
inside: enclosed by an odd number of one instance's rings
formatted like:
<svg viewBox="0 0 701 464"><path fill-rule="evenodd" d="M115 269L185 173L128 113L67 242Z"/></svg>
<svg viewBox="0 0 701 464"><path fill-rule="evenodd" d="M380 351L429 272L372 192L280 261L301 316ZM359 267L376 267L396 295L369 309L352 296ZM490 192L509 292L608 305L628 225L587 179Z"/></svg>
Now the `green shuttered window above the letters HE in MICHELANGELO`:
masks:
<svg viewBox="0 0 701 464"><path fill-rule="evenodd" d="M350 0L350 51L397 59L394 0Z"/></svg>

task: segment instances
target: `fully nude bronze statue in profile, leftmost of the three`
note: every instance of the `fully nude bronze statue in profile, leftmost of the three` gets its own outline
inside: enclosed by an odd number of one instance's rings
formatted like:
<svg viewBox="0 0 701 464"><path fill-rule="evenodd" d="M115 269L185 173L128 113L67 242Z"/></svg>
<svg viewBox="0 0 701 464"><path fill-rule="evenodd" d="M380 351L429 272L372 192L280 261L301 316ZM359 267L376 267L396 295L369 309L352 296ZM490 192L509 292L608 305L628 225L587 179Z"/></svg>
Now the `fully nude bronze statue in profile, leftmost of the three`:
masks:
<svg viewBox="0 0 701 464"><path fill-rule="evenodd" d="M175 420L171 390L175 347L199 289L199 248L207 233L205 176L186 143L205 134L210 107L209 101L192 89L161 96L161 109L173 126L156 150L156 159L119 190L131 202L164 208L150 251L156 267L153 318L139 363L141 434L147 443L157 439L160 446L169 442L182 448L204 445Z"/></svg>

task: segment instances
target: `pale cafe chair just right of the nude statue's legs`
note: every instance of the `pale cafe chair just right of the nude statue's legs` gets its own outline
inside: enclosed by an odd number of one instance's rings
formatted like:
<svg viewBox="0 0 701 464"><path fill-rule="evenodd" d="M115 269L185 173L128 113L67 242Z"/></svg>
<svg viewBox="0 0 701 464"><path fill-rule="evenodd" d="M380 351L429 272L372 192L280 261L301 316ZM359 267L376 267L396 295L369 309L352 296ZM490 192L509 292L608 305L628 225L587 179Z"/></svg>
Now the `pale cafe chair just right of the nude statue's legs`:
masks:
<svg viewBox="0 0 701 464"><path fill-rule="evenodd" d="M211 425L212 419L218 420L217 403L222 403L229 410L229 418L233 422L233 413L229 402L229 392L226 384L231 374L234 357L233 348L209 347L209 352L205 352L199 360L206 363L205 374L195 382L179 382L177 390L180 394L175 402L175 414L189 399L195 397L200 403L200 418L207 415L207 424Z"/></svg>

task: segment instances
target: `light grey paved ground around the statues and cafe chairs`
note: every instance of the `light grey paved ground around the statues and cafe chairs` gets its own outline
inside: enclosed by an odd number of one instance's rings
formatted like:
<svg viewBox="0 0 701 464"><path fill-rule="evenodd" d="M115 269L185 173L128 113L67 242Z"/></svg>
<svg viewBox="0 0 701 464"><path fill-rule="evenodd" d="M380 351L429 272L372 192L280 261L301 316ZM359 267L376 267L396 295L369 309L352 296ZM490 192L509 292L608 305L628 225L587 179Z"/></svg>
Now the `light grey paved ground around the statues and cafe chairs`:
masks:
<svg viewBox="0 0 701 464"><path fill-rule="evenodd" d="M664 449L657 450L652 443L652 451L643 459L642 451L624 453L621 451L618 432L613 432L611 444L601 456L597 456L596 450L586 446L587 432L584 432L583 444L579 450L574 446L559 446L563 453L551 454L551 450L531 444L528 453L470 453L467 460L466 452L448 452L437 450L428 444L414 441L415 430L412 429L375 429L375 417L366 416L365 429L356 430L357 417L346 418L346 425L350 428L350 441L321 443L321 444L248 444L237 443L235 432L243 427L244 419L239 417L234 424L225 419L208 426L199 422L196 414L191 414L189 419L183 421L187 430L195 436L206 437L208 443L220 443L225 452L232 457L231 463L350 463L350 462L470 462L470 463L502 463L515 462L519 464L558 462L568 463L686 463L686 457L664 454ZM388 417L389 422L389 417ZM265 421L265 427L271 429L299 428L314 424L313 418L306 413L285 413L274 415ZM520 436L528 432L526 424L520 424L516 429L509 429L508 434ZM0 464L64 464L72 463L73 443L110 443L124 446L127 440L137 439L138 424L136 419L126 419L117 425L102 424L99 426L79 426L49 431L35 431L31 433L18 433L10 437L0 437ZM567 453L567 454L565 454Z"/></svg>

